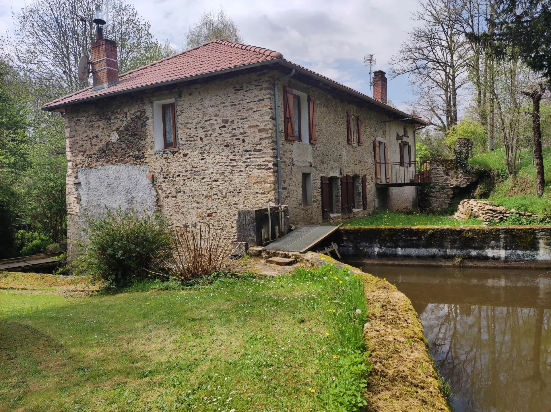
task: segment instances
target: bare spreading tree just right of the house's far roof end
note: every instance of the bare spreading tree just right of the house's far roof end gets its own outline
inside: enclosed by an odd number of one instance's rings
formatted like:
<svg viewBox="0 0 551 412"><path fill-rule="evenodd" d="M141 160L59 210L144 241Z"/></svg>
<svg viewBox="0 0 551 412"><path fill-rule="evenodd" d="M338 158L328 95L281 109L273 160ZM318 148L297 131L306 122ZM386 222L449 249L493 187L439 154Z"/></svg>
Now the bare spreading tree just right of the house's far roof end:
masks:
<svg viewBox="0 0 551 412"><path fill-rule="evenodd" d="M452 0L419 3L421 24L390 61L391 76L409 75L420 109L442 132L457 124L458 91L467 84L467 42L461 31L462 9Z"/></svg>

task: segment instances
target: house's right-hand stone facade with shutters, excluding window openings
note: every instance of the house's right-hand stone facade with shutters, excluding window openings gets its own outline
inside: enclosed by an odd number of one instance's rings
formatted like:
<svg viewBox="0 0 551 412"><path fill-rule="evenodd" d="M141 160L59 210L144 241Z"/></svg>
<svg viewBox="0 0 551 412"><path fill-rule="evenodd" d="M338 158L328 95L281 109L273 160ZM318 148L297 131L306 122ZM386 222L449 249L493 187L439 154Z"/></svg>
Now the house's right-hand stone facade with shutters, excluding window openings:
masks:
<svg viewBox="0 0 551 412"><path fill-rule="evenodd" d="M283 117L283 86L304 91L316 99L317 113L317 144L294 142L285 140ZM367 204L368 210L373 208L375 191L375 162L373 155L373 140L385 139L388 144L389 160L399 161L399 143L396 133L403 134L403 122L382 121L389 118L360 107L353 102L347 102L325 90L301 83L290 78L279 85L279 127L282 157L282 186L283 204L289 205L289 217L292 224L320 224L326 220L322 218L321 210L321 176L335 179L337 187L337 209L340 210L340 181L344 175L356 177L356 204L361 209L361 176L367 177ZM362 144L347 143L346 112L361 118ZM275 127L275 126L274 126ZM275 133L275 131L274 131ZM406 140L413 144L413 126L408 125ZM412 150L412 158L415 157ZM302 206L301 174L312 174L312 206ZM388 208L402 209L412 207L415 202L414 187L389 188L385 192L387 198L382 204ZM358 212L359 215L364 212Z"/></svg>

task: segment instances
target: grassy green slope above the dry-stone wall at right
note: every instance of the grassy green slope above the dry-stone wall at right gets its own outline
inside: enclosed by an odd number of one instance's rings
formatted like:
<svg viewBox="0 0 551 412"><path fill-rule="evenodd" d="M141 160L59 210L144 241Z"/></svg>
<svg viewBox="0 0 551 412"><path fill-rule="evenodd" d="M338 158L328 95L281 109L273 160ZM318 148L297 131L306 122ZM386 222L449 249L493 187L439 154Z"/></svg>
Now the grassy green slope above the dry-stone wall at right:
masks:
<svg viewBox="0 0 551 412"><path fill-rule="evenodd" d="M486 181L483 178L480 183L482 187L479 191L483 194L481 198L522 212L551 214L551 148L543 150L545 187L541 198L536 196L536 166L532 166L530 150L523 151L521 167L512 178L507 176L503 149L475 155L469 159L469 164L487 172ZM484 185L492 186L489 185L490 180L495 183L495 186L490 191L485 191Z"/></svg>

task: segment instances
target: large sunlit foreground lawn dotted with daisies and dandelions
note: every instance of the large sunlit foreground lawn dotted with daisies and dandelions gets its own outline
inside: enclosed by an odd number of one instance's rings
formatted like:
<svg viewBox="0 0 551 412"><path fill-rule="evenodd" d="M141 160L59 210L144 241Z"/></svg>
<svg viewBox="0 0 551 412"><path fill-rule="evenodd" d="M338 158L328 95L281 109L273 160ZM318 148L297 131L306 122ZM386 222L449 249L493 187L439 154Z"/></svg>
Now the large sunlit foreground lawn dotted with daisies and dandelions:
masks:
<svg viewBox="0 0 551 412"><path fill-rule="evenodd" d="M0 410L327 409L348 344L337 325L356 319L363 341L366 307L361 284L364 306L343 299L352 275L322 269L84 297L0 290ZM333 270L341 280L322 278Z"/></svg>

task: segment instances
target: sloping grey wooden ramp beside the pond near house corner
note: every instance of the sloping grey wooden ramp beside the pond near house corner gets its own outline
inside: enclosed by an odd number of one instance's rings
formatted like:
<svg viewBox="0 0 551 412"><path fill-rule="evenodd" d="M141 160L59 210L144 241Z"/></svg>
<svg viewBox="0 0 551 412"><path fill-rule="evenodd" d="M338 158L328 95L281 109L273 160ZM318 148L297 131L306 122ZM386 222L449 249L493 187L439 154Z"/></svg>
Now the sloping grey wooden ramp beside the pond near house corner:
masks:
<svg viewBox="0 0 551 412"><path fill-rule="evenodd" d="M342 224L341 224L342 225ZM338 226L299 226L287 235L274 240L263 251L304 253L331 235Z"/></svg>

